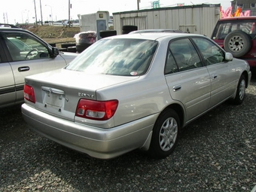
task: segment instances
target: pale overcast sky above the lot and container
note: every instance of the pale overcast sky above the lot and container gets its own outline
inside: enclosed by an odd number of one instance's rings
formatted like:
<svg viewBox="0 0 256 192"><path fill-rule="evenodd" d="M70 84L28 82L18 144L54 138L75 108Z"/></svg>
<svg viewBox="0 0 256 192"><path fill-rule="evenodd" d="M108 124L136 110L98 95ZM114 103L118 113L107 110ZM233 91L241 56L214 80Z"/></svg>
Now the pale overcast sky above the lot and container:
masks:
<svg viewBox="0 0 256 192"><path fill-rule="evenodd" d="M69 19L69 1L72 4L70 16L72 20L78 19L78 14L93 14L96 11L108 11L110 15L120 11L137 10L137 0L7 0L0 7L2 15L0 23L34 23L35 11L37 20L67 20ZM140 0L139 8L151 8L149 0ZM35 4L34 4L35 2ZM41 8L40 8L41 2ZM221 4L226 10L231 0L160 0L160 7L184 5ZM36 8L35 8L36 6Z"/></svg>

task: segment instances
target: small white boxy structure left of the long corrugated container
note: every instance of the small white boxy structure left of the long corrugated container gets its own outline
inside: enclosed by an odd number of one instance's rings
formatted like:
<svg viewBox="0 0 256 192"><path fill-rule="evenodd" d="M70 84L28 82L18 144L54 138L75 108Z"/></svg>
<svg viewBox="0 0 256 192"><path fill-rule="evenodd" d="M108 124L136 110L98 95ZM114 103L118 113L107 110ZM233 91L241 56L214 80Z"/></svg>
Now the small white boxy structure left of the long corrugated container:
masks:
<svg viewBox="0 0 256 192"><path fill-rule="evenodd" d="M97 39L100 39L99 32L108 30L108 11L97 11L94 14L78 14L80 31L96 31Z"/></svg>

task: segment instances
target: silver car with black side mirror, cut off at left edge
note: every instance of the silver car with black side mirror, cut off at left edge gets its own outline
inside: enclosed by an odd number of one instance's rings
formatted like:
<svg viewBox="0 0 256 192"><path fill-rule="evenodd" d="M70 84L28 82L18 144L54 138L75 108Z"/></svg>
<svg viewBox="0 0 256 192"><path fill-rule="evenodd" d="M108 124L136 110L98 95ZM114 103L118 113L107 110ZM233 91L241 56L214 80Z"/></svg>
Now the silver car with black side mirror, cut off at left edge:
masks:
<svg viewBox="0 0 256 192"><path fill-rule="evenodd" d="M32 32L0 26L0 108L24 102L25 77L66 66L78 53L59 53Z"/></svg>

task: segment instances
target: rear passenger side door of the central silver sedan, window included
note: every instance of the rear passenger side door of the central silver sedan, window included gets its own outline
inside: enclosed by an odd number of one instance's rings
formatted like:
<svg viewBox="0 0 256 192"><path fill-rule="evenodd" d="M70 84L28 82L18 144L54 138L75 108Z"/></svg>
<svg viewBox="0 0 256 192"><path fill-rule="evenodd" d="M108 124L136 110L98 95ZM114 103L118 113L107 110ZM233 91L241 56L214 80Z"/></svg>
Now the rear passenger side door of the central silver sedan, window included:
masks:
<svg viewBox="0 0 256 192"><path fill-rule="evenodd" d="M211 81L189 38L169 43L165 68L166 82L172 99L184 105L185 122L209 108Z"/></svg>

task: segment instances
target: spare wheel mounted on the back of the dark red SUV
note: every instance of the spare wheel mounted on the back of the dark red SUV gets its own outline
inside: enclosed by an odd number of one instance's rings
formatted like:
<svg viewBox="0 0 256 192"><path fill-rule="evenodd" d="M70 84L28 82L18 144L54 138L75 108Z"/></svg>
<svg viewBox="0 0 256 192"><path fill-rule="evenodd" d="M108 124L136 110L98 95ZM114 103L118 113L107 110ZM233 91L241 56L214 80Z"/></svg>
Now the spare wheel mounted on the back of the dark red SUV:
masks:
<svg viewBox="0 0 256 192"><path fill-rule="evenodd" d="M241 30L230 32L224 39L224 49L234 57L244 56L251 49L251 38Z"/></svg>

